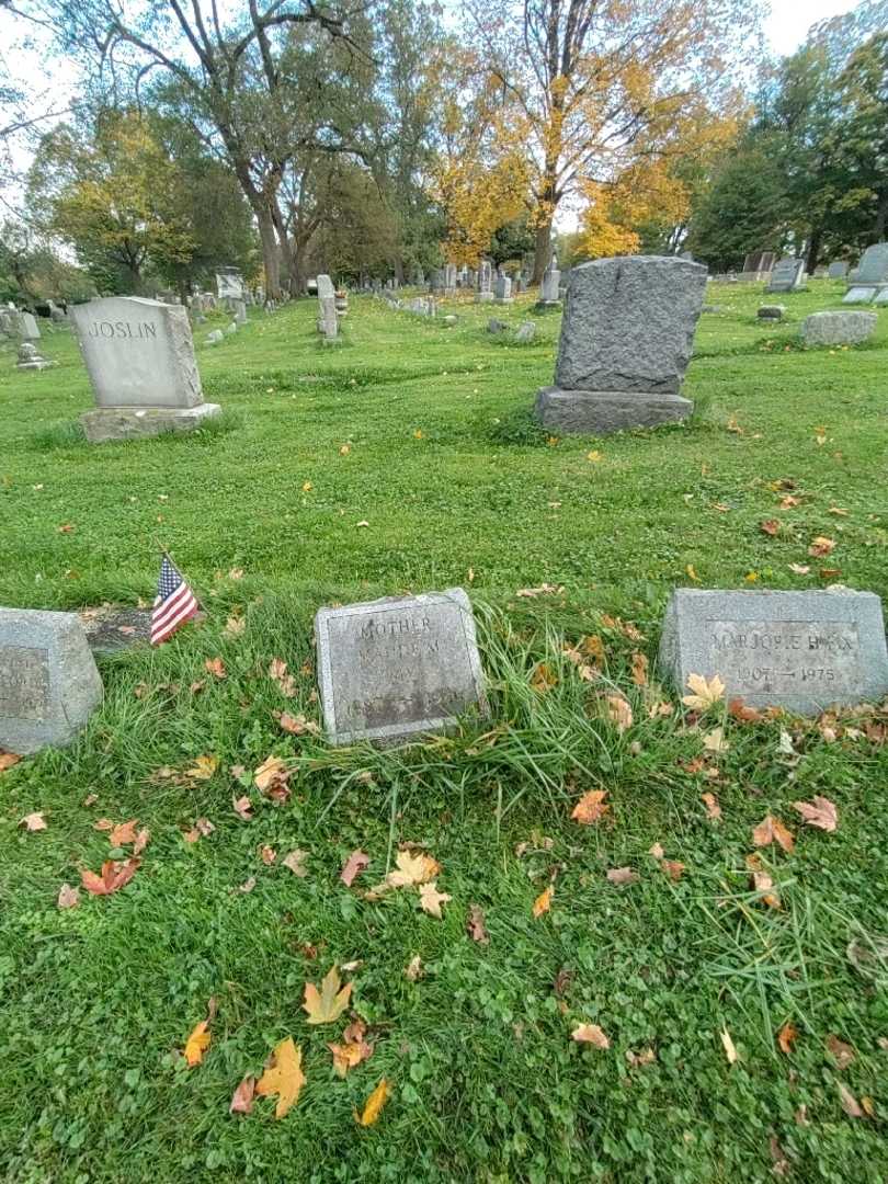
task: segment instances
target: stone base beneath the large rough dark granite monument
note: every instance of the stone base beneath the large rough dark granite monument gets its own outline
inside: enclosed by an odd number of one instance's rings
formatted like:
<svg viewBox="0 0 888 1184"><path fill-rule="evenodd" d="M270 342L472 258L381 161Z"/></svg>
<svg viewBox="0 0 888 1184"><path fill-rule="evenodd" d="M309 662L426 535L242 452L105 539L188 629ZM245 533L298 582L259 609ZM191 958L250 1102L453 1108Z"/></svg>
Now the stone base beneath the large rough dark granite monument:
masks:
<svg viewBox="0 0 888 1184"><path fill-rule="evenodd" d="M562 391L546 386L536 395L536 417L553 432L606 436L628 427L656 427L686 419L694 410L680 394L637 391Z"/></svg>

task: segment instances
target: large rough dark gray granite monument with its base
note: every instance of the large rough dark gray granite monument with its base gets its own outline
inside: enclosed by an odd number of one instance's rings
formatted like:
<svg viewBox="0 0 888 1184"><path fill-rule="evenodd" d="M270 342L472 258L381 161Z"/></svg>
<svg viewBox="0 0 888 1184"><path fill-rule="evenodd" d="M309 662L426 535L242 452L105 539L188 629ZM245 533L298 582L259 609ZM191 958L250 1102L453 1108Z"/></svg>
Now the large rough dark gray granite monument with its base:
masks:
<svg viewBox="0 0 888 1184"><path fill-rule="evenodd" d="M707 270L673 256L596 259L571 271L555 385L536 398L553 432L605 435L690 414L678 390Z"/></svg>

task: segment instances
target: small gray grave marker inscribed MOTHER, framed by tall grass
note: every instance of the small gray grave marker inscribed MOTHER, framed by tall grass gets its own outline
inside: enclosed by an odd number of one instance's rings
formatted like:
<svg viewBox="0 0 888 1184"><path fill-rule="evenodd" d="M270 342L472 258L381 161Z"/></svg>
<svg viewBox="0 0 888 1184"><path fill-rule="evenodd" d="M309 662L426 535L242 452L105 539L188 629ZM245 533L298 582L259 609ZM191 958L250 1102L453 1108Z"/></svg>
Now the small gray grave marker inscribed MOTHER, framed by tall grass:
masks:
<svg viewBox="0 0 888 1184"><path fill-rule="evenodd" d="M315 617L333 744L410 740L487 710L475 619L462 588L391 597Z"/></svg>

